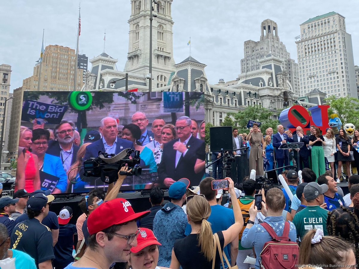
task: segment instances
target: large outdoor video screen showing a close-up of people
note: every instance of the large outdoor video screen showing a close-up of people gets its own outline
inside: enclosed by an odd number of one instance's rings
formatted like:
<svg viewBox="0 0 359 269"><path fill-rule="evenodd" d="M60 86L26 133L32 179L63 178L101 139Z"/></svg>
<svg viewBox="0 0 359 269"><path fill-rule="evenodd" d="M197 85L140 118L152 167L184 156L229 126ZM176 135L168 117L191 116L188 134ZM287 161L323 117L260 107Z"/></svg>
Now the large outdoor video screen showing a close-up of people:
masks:
<svg viewBox="0 0 359 269"><path fill-rule="evenodd" d="M141 174L127 175L122 191L168 188L183 177L197 186L205 175L204 119L198 92L24 92L15 191L106 189L127 164L105 163L84 176L84 162L89 171L99 154L128 149L126 163Z"/></svg>

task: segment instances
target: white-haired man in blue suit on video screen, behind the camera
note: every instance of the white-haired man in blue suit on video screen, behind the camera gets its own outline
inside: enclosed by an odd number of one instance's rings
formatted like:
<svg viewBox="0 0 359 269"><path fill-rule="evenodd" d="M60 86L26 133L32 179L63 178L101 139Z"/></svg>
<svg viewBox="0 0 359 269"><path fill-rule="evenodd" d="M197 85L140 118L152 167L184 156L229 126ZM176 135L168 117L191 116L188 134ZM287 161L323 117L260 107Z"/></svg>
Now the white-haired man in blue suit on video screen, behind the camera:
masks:
<svg viewBox="0 0 359 269"><path fill-rule="evenodd" d="M84 161L89 158L96 158L100 150L108 154L118 154L126 148L134 148L131 141L117 138L117 122L115 119L111 117L103 118L98 130L102 134L102 139L86 147Z"/></svg>

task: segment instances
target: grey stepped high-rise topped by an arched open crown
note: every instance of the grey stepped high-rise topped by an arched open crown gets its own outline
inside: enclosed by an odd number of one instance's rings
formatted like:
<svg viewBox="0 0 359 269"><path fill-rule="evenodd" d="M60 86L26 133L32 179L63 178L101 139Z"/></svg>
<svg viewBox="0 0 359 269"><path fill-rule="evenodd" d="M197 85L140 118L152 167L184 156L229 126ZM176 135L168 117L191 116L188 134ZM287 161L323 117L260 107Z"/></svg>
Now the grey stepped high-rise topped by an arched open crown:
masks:
<svg viewBox="0 0 359 269"><path fill-rule="evenodd" d="M289 81L293 93L298 92L298 64L290 59L290 53L286 50L283 42L279 40L278 25L273 20L266 19L261 23L260 41L244 41L244 58L241 60L241 74L260 69L259 60L268 54L283 60L283 70L289 75Z"/></svg>

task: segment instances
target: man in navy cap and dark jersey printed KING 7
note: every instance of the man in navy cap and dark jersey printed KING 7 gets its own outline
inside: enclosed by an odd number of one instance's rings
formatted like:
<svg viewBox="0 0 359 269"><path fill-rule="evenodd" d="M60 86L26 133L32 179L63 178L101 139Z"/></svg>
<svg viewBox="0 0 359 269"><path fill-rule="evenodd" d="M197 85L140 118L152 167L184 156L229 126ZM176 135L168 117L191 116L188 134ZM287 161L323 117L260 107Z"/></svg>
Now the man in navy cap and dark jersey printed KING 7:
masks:
<svg viewBox="0 0 359 269"><path fill-rule="evenodd" d="M41 223L54 199L51 194L31 195L26 204L29 219L18 223L10 236L10 247L29 254L37 268L52 269L51 260L55 258L51 229Z"/></svg>

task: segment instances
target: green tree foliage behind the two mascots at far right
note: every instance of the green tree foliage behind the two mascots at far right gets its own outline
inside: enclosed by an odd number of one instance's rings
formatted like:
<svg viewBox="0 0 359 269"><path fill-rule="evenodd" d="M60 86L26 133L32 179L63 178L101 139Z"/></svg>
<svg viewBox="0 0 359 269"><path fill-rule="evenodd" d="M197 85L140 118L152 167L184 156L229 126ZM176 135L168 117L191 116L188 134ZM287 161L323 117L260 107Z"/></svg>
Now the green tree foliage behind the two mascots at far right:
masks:
<svg viewBox="0 0 359 269"><path fill-rule="evenodd" d="M352 123L356 127L359 125L359 100L353 97L330 96L325 99L330 106L328 116L332 113L338 114L339 119L344 124Z"/></svg>

